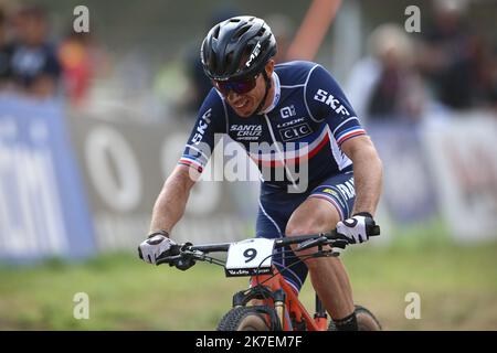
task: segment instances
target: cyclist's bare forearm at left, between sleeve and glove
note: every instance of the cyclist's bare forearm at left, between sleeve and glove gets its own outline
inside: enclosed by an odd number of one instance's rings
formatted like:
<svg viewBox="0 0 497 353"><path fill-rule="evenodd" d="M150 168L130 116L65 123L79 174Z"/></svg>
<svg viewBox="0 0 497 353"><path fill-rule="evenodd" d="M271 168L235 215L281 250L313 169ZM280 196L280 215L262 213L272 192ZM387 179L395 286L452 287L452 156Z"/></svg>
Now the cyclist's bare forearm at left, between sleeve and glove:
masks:
<svg viewBox="0 0 497 353"><path fill-rule="evenodd" d="M194 170L179 164L166 180L154 205L149 234L161 229L170 233L181 220L190 190L195 183L195 180L190 176L191 172Z"/></svg>

